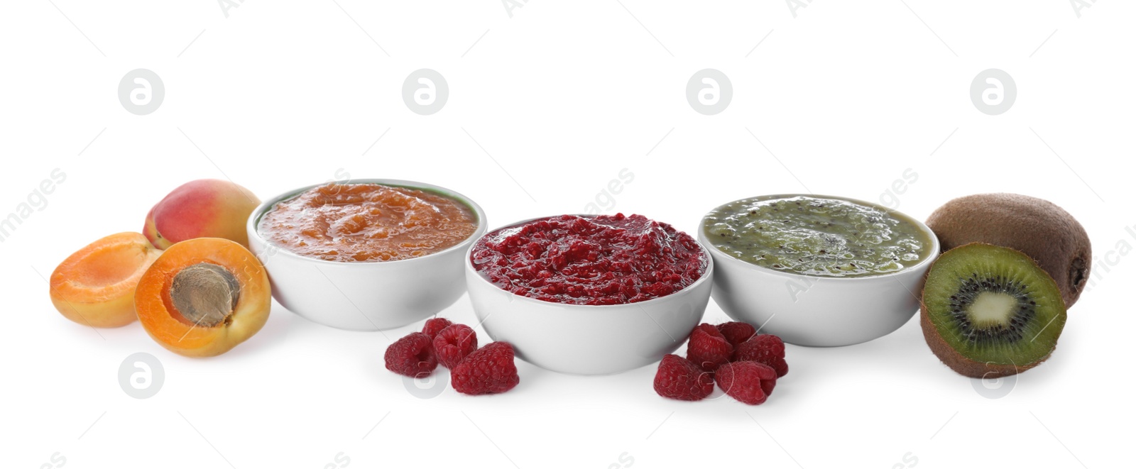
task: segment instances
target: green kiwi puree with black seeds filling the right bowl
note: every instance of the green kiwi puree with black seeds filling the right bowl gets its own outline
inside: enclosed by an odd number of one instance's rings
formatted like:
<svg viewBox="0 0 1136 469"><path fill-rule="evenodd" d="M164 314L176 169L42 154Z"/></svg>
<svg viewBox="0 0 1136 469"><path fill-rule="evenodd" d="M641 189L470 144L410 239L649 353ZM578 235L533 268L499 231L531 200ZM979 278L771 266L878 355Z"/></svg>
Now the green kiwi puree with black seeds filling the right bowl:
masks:
<svg viewBox="0 0 1136 469"><path fill-rule="evenodd" d="M718 207L705 238L734 258L818 277L893 274L932 256L929 235L896 211L830 196L758 196Z"/></svg>

